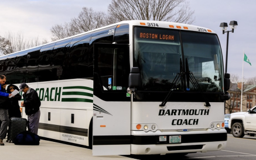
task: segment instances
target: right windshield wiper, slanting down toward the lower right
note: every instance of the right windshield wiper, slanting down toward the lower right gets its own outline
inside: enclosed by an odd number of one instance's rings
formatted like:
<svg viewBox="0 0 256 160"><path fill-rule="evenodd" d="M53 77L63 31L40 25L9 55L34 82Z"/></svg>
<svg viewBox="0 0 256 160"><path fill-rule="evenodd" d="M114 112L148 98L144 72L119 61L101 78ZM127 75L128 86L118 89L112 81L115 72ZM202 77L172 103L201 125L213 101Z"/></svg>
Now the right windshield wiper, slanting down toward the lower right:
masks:
<svg viewBox="0 0 256 160"><path fill-rule="evenodd" d="M186 78L187 78L187 91L190 91L190 88L189 88L189 81L190 81L195 89L200 90L200 93L202 94L206 103L204 106L210 108L211 105L207 100L206 96L204 95L202 89L200 88L200 85L196 81L196 78L194 78L193 72L189 71L189 63L187 62L187 58L186 58Z"/></svg>

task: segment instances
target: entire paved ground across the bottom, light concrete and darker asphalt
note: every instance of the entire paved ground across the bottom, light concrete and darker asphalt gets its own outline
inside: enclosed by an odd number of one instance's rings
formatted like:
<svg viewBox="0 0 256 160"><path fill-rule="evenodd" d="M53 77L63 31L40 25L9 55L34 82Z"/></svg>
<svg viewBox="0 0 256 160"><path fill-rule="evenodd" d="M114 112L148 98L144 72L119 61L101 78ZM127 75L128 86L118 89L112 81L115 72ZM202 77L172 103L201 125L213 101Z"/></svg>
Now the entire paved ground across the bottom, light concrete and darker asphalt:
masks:
<svg viewBox="0 0 256 160"><path fill-rule="evenodd" d="M14 145L12 143L5 142L4 146L0 146L1 154L0 159L11 160L83 160L83 159L220 159L220 160L233 160L233 159L256 159L256 137L250 137L245 135L244 138L234 138L232 134L228 134L227 147L222 151L198 152L196 154L188 154L183 158L175 158L173 155L165 156L92 156L91 149L76 147L72 145L60 144L51 141L40 141L40 145L37 146L23 146Z"/></svg>

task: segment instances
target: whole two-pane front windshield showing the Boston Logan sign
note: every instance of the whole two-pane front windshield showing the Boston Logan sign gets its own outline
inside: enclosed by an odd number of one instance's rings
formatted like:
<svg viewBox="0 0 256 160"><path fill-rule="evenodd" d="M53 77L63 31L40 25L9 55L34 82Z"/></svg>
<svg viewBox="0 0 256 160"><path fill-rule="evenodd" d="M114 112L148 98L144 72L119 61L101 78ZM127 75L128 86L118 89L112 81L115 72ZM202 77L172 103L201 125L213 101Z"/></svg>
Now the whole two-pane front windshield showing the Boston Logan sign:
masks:
<svg viewBox="0 0 256 160"><path fill-rule="evenodd" d="M187 60L203 92L223 92L222 55L215 34L145 27L135 27L134 34L134 66L141 70L142 81L139 90L170 91ZM181 81L176 88L186 90L180 85ZM190 82L189 91L200 89Z"/></svg>

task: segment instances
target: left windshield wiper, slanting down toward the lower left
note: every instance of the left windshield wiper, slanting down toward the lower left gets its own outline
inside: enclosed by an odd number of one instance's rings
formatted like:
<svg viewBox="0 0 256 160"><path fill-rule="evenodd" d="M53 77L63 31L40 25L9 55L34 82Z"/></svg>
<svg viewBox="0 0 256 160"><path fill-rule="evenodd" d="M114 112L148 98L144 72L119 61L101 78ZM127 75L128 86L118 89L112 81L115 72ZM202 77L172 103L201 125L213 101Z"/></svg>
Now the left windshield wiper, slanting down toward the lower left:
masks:
<svg viewBox="0 0 256 160"><path fill-rule="evenodd" d="M183 75L184 75L184 72L183 72L183 66L182 66L182 59L180 58L180 73L178 73L175 78L173 79L172 81L172 88L170 89L168 95L166 96L165 100L163 100L163 102L159 105L161 107L165 106L168 99L170 98L170 95L172 95L172 92L176 89L173 89L173 86L177 86L177 84L179 83L179 81L181 81L181 88L183 88ZM177 88L179 89L179 88Z"/></svg>

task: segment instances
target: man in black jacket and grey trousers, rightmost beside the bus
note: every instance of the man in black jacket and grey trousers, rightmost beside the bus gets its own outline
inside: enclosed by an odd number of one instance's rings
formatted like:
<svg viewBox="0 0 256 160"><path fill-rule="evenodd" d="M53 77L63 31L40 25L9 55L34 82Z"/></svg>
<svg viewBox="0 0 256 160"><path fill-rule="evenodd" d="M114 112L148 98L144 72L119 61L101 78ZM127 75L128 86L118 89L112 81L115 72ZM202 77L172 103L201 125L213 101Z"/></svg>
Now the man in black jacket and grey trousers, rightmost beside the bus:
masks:
<svg viewBox="0 0 256 160"><path fill-rule="evenodd" d="M19 85L19 92L23 91L23 102L21 102L21 106L25 107L25 113L28 115L28 128L32 133L37 134L39 127L39 119L40 119L40 109L41 106L40 99L37 95L37 92L30 88L25 83Z"/></svg>

